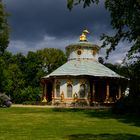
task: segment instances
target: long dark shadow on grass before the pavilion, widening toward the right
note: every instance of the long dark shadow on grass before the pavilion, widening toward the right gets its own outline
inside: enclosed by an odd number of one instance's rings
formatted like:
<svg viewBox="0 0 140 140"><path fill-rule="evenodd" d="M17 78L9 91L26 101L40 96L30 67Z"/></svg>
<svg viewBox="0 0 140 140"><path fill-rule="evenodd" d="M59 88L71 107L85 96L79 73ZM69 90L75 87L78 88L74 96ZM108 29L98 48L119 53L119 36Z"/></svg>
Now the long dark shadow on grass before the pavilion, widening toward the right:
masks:
<svg viewBox="0 0 140 140"><path fill-rule="evenodd" d="M87 117L100 119L116 119L122 123L140 127L139 116L136 115L114 115L110 109L78 109L78 108L54 108L55 112L82 112Z"/></svg>

